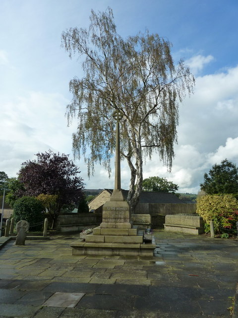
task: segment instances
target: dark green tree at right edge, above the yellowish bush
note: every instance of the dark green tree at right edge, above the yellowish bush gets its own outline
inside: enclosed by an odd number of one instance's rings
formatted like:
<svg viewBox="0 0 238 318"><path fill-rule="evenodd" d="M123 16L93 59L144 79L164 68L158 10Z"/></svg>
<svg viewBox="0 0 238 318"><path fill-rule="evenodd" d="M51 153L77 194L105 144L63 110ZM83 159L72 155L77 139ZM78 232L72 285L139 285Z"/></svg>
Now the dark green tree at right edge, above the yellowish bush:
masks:
<svg viewBox="0 0 238 318"><path fill-rule="evenodd" d="M238 168L236 164L222 160L214 164L209 173L204 174L204 181L200 184L206 194L236 194L238 197Z"/></svg>

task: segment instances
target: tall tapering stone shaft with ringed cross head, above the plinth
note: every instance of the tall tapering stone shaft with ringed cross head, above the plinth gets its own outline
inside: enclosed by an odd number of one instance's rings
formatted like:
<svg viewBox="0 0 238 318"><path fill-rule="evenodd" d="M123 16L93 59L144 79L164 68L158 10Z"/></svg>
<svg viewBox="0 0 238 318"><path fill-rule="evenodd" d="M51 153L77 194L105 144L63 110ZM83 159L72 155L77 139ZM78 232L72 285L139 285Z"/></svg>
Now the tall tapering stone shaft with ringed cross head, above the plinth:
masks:
<svg viewBox="0 0 238 318"><path fill-rule="evenodd" d="M119 121L122 119L122 112L117 109L113 113L114 119L117 120L116 130L116 157L115 157L115 190L120 190L120 125Z"/></svg>

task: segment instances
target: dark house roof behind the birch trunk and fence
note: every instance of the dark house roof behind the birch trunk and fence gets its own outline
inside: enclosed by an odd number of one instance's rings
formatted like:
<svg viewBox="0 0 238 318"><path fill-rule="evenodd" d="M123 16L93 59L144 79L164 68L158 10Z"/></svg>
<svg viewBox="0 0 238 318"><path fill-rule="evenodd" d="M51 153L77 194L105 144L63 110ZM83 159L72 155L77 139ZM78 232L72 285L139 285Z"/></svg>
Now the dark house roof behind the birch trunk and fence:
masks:
<svg viewBox="0 0 238 318"><path fill-rule="evenodd" d="M103 191L113 193L113 189L104 189ZM129 190L121 190L124 200L126 200ZM192 201L191 201L192 202ZM181 200L175 194L169 192L142 191L139 203L191 203ZM192 202L193 203L193 202Z"/></svg>

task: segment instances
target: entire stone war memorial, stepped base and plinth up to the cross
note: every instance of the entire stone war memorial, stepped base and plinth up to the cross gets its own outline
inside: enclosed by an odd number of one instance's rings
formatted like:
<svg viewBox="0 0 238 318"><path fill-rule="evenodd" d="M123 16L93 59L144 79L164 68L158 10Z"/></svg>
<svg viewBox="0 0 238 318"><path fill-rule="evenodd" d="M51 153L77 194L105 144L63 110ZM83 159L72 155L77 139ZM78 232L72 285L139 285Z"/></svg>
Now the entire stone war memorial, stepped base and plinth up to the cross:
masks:
<svg viewBox="0 0 238 318"><path fill-rule="evenodd" d="M120 156L119 156L119 120L117 117L115 189L110 201L103 206L103 220L99 227L93 229L84 240L70 244L73 255L120 255L120 256L153 256L155 243L143 242L143 233L138 234L131 221L130 207L124 200L120 189Z"/></svg>

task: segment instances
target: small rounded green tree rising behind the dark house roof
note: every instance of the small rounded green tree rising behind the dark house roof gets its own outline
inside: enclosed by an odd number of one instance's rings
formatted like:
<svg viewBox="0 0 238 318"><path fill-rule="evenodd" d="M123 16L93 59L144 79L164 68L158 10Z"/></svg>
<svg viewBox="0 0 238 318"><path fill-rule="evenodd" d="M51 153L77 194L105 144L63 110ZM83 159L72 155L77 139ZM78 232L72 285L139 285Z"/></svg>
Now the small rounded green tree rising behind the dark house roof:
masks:
<svg viewBox="0 0 238 318"><path fill-rule="evenodd" d="M142 188L145 191L175 193L175 191L179 189L179 186L172 181L168 181L166 178L154 176L144 179L142 182Z"/></svg>

